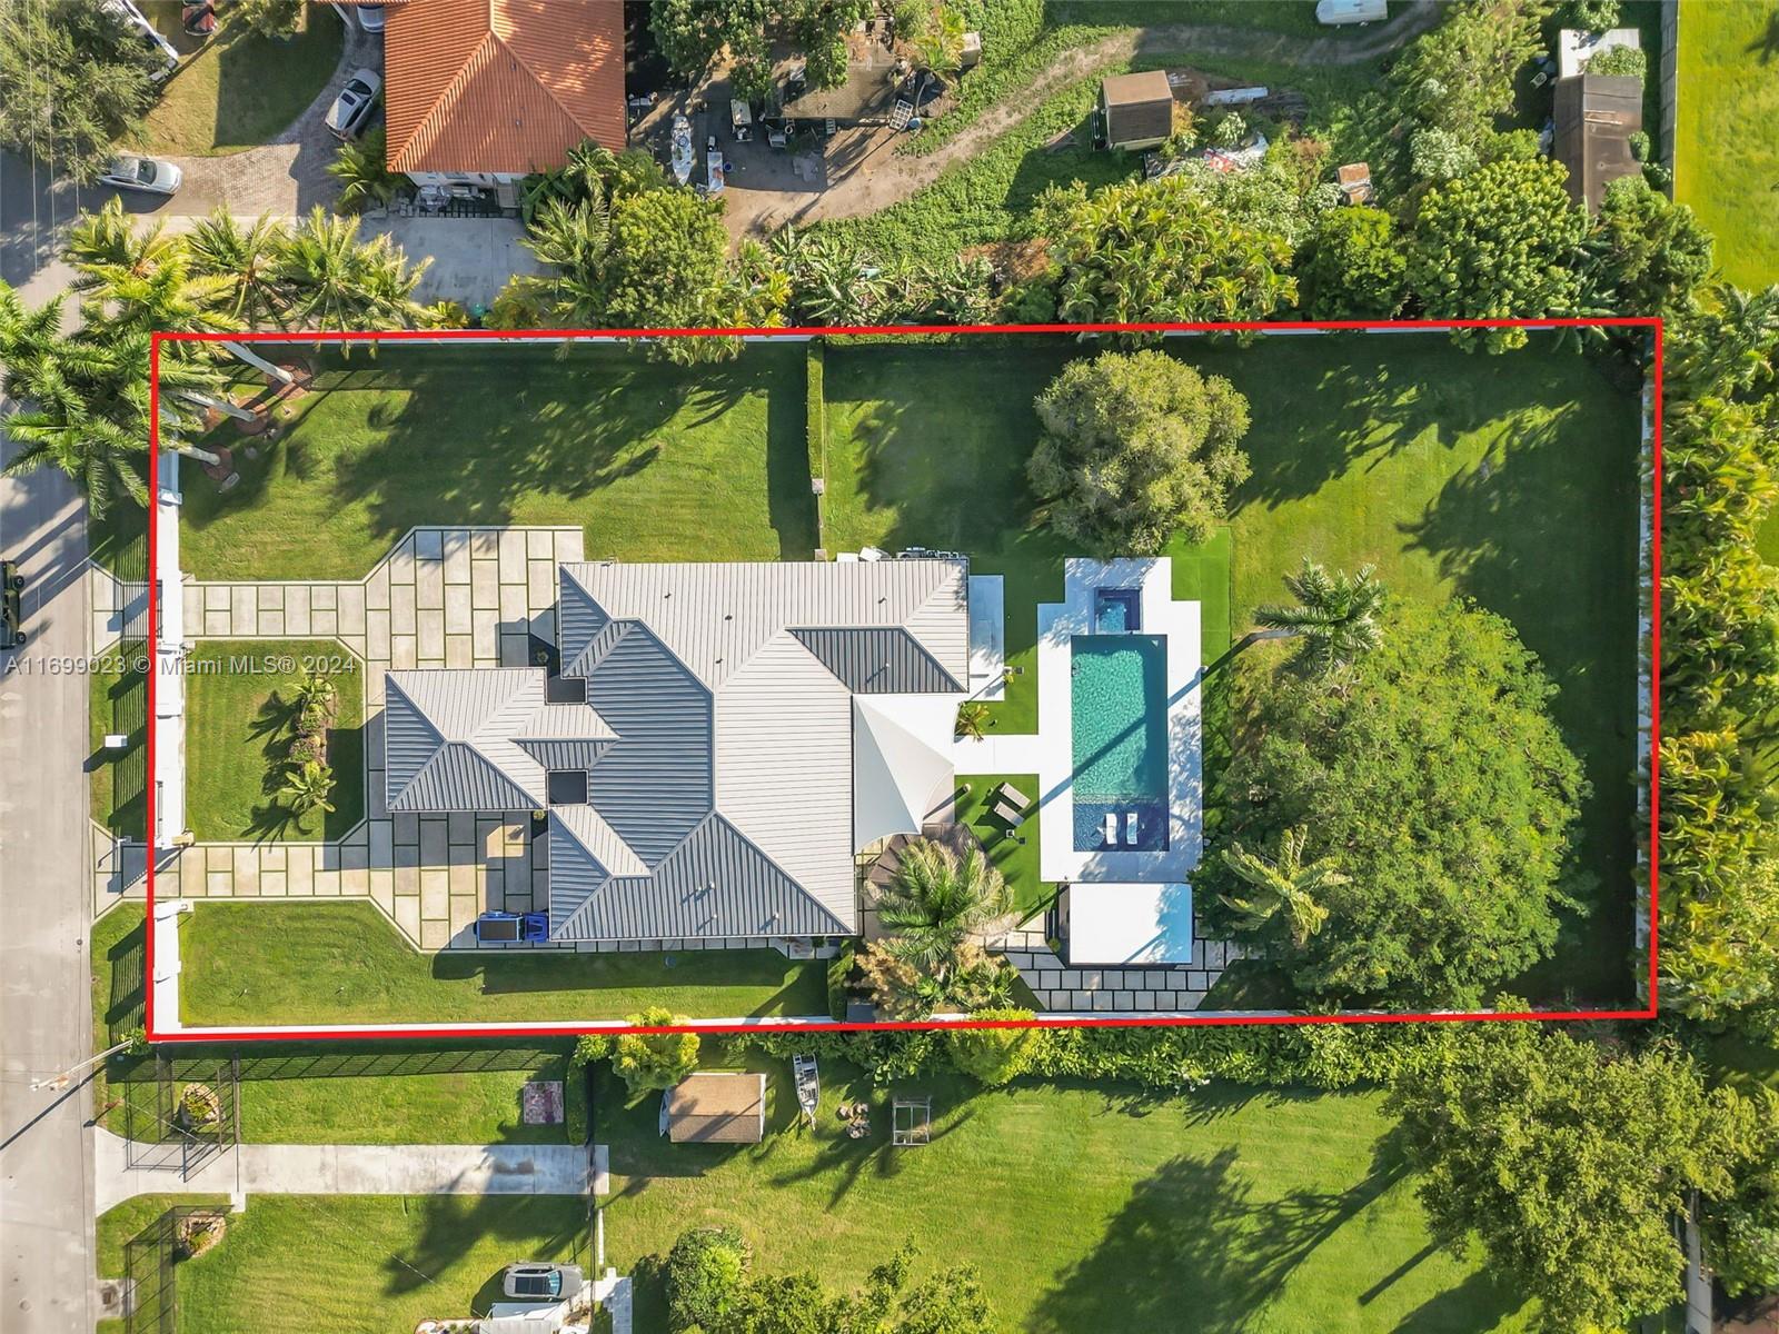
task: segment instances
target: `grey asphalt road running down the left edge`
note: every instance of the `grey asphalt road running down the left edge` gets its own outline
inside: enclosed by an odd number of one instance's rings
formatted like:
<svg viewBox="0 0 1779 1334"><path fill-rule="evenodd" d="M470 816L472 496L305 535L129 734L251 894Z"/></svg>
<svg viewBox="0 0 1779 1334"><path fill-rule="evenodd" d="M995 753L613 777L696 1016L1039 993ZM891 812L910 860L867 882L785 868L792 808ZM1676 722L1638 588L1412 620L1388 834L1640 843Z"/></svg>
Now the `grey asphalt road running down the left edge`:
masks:
<svg viewBox="0 0 1779 1334"><path fill-rule="evenodd" d="M18 187L39 196L36 215ZM91 192L84 192L91 203ZM53 210L53 213L50 212ZM0 267L36 304L66 269L50 237L73 192L0 162ZM0 400L0 461L11 459ZM91 1089L32 1092L93 1053L87 932L87 690L48 676L87 651L85 518L60 473L0 477L0 557L27 578L30 640L0 653L0 1330L87 1334L93 1300ZM23 658L32 671L18 671Z"/></svg>

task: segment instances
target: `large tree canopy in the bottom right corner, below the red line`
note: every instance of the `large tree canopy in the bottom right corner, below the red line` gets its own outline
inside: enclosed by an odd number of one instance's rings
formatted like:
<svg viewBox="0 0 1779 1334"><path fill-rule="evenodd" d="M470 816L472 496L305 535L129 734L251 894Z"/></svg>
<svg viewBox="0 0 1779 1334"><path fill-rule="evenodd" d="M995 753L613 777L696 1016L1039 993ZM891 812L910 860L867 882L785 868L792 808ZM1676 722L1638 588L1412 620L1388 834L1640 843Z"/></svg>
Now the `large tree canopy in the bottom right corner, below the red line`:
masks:
<svg viewBox="0 0 1779 1334"><path fill-rule="evenodd" d="M1624 1329L1681 1298L1674 1218L1727 1195L1756 1126L1662 1048L1614 1053L1562 1030L1455 1032L1391 1090L1434 1236L1537 1297L1551 1334Z"/></svg>

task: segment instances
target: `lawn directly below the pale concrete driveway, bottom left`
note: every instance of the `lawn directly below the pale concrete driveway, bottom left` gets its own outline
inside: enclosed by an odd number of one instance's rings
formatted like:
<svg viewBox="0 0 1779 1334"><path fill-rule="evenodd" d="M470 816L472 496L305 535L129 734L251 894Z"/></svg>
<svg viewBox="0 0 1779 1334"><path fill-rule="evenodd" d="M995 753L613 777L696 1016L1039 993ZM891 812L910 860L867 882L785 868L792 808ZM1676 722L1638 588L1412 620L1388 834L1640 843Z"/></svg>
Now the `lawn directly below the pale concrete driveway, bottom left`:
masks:
<svg viewBox="0 0 1779 1334"><path fill-rule="evenodd" d="M174 1202L100 1218L101 1259ZM254 1195L174 1266L181 1334L386 1334L487 1314L516 1259L592 1266L587 1202L559 1195Z"/></svg>

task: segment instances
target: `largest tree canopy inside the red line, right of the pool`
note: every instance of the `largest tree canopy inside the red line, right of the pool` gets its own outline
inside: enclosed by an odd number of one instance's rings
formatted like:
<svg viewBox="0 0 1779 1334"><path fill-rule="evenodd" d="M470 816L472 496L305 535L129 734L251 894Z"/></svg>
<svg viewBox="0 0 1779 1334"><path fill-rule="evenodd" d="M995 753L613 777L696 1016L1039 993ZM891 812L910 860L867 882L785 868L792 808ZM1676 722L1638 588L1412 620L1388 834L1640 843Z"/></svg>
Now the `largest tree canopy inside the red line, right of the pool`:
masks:
<svg viewBox="0 0 1779 1334"><path fill-rule="evenodd" d="M1473 1007L1550 953L1585 790L1553 694L1512 626L1462 603L1393 607L1338 685L1244 672L1219 838L1302 827L1304 863L1341 872L1318 886L1316 934L1260 936L1300 989ZM1242 896L1220 857L1199 877L1213 920L1219 893Z"/></svg>

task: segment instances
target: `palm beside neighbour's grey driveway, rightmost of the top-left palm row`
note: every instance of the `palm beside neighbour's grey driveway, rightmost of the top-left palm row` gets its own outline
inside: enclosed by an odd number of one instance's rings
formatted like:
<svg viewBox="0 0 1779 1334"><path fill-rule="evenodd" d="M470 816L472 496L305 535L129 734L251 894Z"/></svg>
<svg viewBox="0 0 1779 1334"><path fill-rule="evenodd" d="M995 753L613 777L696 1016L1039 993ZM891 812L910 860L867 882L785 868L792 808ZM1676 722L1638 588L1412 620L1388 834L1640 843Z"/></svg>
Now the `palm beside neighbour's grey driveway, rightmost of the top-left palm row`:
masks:
<svg viewBox="0 0 1779 1334"><path fill-rule="evenodd" d="M427 263L409 267L386 233L361 242L356 217L317 205L279 256L278 286L294 325L402 329L418 318L415 286Z"/></svg>

